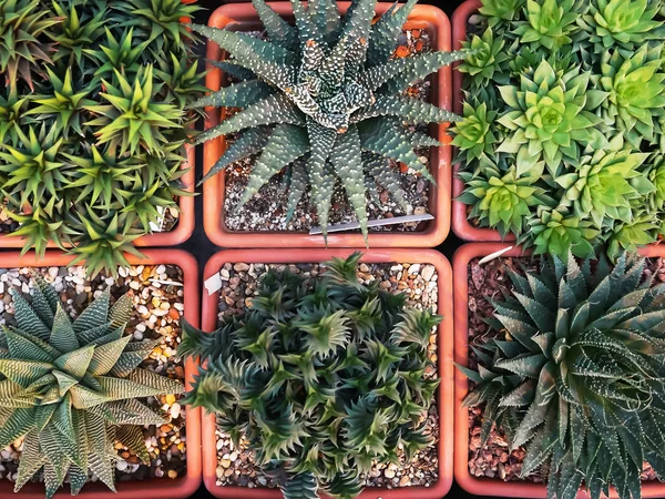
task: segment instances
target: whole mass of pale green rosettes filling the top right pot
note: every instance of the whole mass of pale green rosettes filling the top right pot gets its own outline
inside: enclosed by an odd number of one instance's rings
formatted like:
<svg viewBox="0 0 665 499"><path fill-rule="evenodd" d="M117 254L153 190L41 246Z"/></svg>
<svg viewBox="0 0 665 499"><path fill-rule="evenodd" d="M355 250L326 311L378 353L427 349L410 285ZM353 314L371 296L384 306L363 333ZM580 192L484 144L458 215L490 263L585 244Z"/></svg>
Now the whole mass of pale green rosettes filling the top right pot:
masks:
<svg viewBox="0 0 665 499"><path fill-rule="evenodd" d="M662 0L484 0L478 19L453 128L472 222L562 259L661 238Z"/></svg>

